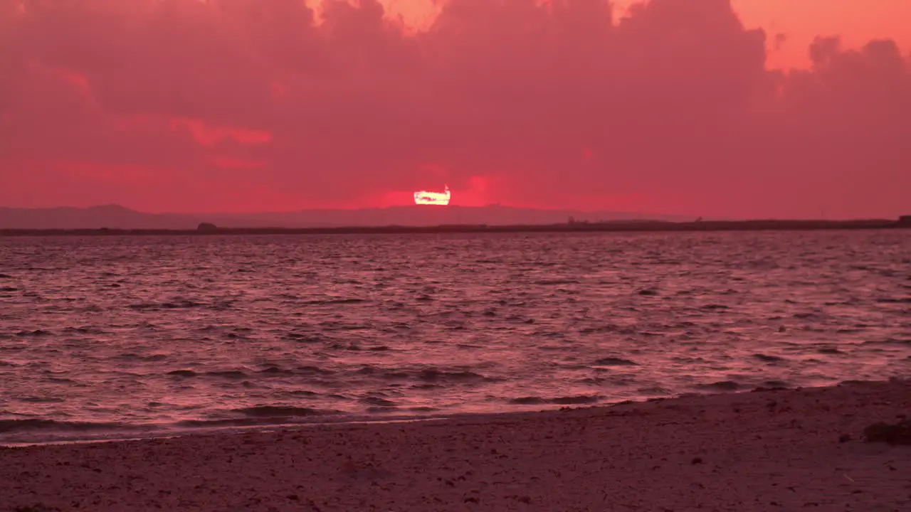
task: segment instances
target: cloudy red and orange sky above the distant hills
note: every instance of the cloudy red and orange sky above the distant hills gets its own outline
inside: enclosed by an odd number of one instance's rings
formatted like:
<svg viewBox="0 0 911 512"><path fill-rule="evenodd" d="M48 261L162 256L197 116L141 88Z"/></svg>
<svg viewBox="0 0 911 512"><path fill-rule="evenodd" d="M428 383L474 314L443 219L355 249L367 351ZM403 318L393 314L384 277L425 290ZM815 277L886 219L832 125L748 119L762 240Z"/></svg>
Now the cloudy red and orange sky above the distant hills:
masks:
<svg viewBox="0 0 911 512"><path fill-rule="evenodd" d="M911 214L907 0L0 0L0 206Z"/></svg>

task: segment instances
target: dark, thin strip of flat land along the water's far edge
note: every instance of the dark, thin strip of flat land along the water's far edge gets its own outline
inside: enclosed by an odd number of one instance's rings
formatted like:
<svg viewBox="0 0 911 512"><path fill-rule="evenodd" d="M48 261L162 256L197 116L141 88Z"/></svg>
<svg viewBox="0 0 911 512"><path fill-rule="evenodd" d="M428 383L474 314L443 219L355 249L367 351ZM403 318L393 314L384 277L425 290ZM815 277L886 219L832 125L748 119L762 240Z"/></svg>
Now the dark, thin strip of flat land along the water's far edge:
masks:
<svg viewBox="0 0 911 512"><path fill-rule="evenodd" d="M0 237L889 230L909 228L911 228L911 219L903 217L900 220L706 220L693 222L633 220L538 225L487 226L483 224L447 224L438 226L351 226L336 228L220 228L202 224L200 225L200 228L196 230L107 228L81 230L2 229L0 230Z"/></svg>

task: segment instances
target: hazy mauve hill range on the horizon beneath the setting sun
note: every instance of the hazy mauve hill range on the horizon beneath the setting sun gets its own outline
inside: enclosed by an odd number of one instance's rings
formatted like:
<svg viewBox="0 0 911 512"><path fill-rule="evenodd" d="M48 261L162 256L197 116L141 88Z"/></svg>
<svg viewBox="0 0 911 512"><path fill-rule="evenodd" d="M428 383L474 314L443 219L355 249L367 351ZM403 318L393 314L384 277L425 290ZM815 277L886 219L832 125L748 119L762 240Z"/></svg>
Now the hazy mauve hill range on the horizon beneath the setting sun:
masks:
<svg viewBox="0 0 911 512"><path fill-rule="evenodd" d="M144 213L117 205L91 208L0 208L0 229L190 230L200 222L222 228L334 228L438 226L443 224L554 224L589 220L691 220L670 215L615 211L537 210L507 206L403 206L362 210L301 210L262 213Z"/></svg>

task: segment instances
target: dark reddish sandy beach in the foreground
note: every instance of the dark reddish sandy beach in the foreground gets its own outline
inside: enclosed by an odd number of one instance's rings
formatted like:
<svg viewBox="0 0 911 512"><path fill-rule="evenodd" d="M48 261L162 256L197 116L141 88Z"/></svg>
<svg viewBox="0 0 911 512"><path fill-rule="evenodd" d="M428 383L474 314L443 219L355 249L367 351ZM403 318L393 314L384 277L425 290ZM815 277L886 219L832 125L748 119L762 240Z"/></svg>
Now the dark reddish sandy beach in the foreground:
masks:
<svg viewBox="0 0 911 512"><path fill-rule="evenodd" d="M0 510L911 510L911 383L0 449Z"/></svg>

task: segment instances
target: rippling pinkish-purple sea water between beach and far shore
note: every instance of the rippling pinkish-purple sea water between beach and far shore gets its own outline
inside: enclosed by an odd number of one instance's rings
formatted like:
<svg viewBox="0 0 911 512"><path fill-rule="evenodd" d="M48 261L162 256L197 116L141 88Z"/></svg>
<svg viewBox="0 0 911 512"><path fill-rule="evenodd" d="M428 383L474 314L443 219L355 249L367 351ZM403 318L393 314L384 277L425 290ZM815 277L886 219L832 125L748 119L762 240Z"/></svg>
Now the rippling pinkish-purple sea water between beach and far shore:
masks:
<svg viewBox="0 0 911 512"><path fill-rule="evenodd" d="M909 374L909 230L0 239L0 443Z"/></svg>

